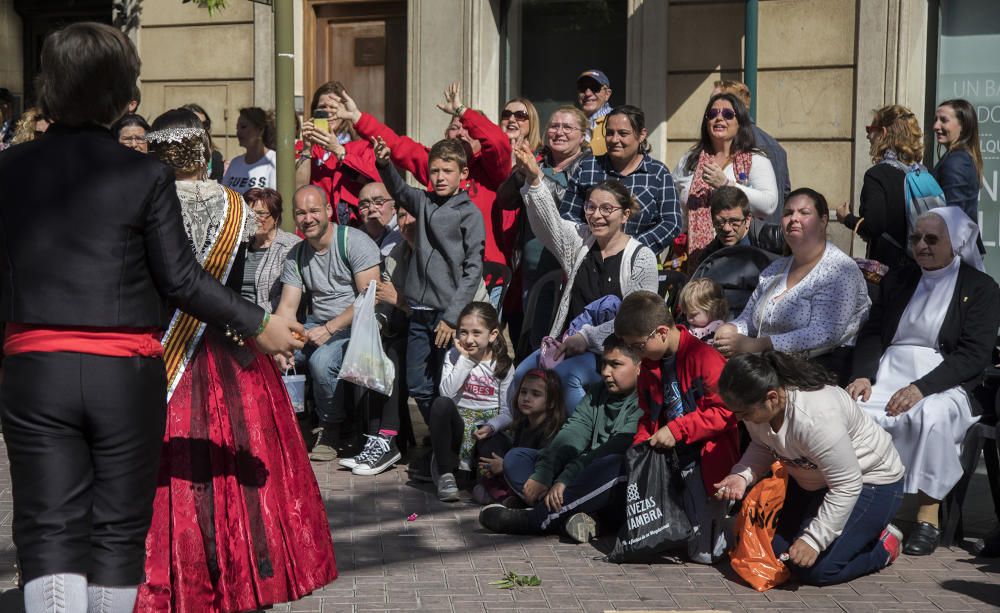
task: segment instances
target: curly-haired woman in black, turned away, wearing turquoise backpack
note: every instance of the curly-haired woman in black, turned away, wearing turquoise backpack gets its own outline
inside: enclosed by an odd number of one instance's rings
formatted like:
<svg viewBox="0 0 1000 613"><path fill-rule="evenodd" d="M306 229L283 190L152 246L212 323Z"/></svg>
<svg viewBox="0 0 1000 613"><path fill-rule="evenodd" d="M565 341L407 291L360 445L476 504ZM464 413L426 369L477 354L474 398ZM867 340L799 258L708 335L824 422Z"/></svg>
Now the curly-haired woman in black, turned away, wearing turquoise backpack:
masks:
<svg viewBox="0 0 1000 613"><path fill-rule="evenodd" d="M848 203L837 207L837 219L868 243L865 257L889 268L912 263L906 250L906 192L910 164L920 163L924 140L910 109L898 104L875 111L868 134L873 166L865 172L858 214Z"/></svg>

